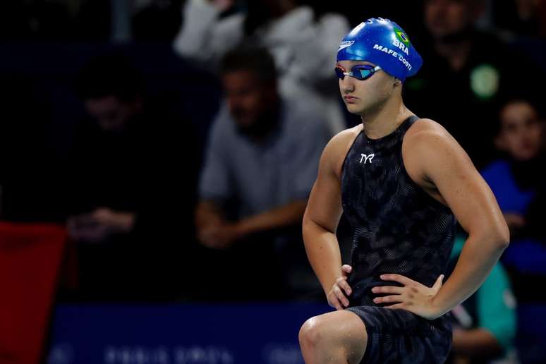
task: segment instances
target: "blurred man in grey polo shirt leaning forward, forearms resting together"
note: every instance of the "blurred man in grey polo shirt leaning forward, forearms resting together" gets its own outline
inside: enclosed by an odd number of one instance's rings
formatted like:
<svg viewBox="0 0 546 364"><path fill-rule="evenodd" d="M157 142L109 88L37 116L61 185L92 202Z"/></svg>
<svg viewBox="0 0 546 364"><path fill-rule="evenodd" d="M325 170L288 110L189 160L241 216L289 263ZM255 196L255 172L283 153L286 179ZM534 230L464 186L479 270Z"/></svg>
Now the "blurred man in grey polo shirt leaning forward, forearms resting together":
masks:
<svg viewBox="0 0 546 364"><path fill-rule="evenodd" d="M279 96L265 49L229 51L222 81L226 102L210 131L196 212L210 295L322 298L301 220L331 136L327 124L309 104Z"/></svg>

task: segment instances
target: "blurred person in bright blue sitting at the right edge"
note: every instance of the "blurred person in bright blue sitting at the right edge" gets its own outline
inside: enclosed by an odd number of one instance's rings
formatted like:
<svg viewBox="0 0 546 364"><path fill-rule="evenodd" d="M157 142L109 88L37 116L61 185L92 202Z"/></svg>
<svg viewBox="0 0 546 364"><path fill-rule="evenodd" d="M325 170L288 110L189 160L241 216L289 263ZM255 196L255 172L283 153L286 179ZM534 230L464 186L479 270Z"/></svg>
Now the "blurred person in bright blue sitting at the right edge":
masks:
<svg viewBox="0 0 546 364"><path fill-rule="evenodd" d="M544 121L528 99L511 99L500 111L495 144L504 157L483 169L511 232L502 261L511 274L518 302L546 302L544 229L546 165Z"/></svg>

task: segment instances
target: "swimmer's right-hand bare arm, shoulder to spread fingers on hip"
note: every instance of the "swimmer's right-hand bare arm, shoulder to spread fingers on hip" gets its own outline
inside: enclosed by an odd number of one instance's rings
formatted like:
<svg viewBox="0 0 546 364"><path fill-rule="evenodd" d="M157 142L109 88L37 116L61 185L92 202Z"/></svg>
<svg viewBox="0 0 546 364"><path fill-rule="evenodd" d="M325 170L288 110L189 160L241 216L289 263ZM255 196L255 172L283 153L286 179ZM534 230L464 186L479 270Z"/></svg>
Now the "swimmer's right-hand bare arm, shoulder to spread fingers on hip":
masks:
<svg viewBox="0 0 546 364"><path fill-rule="evenodd" d="M495 196L459 143L433 121L415 123L414 127L404 138L406 170L416 183L451 208L468 239L454 272L443 286L439 279L432 289L423 289L423 285L411 279L386 274L382 279L398 281L404 288L374 292L396 293L377 299L377 303L399 302L391 307L434 319L478 289L508 245L509 230Z"/></svg>

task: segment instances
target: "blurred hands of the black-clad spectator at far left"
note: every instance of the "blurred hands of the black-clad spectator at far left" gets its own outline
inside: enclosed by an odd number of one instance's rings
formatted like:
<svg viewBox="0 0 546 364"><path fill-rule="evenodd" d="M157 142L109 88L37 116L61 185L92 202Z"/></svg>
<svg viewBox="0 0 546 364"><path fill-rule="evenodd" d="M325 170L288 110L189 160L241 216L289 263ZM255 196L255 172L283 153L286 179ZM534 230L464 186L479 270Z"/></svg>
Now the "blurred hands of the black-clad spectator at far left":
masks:
<svg viewBox="0 0 546 364"><path fill-rule="evenodd" d="M90 214L69 217L68 234L76 241L99 243L113 233L127 233L133 229L135 214L116 212L108 207L101 207Z"/></svg>

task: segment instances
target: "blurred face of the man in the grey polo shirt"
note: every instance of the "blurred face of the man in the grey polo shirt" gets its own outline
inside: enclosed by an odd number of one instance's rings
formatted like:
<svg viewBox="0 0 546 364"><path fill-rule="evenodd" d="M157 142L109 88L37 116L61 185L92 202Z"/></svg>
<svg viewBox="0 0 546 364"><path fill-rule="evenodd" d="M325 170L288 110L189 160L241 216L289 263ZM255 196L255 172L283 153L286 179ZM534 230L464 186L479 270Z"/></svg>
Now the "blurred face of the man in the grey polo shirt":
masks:
<svg viewBox="0 0 546 364"><path fill-rule="evenodd" d="M252 129L277 102L274 83L265 83L253 71L229 71L222 76L231 116L242 130Z"/></svg>

